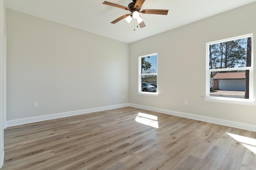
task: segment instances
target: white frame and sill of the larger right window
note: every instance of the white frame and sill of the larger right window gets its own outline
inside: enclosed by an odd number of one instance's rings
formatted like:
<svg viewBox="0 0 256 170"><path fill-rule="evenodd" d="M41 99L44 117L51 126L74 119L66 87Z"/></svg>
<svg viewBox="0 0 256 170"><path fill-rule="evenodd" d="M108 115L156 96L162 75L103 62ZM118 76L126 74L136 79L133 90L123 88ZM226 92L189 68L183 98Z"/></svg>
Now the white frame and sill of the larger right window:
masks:
<svg viewBox="0 0 256 170"><path fill-rule="evenodd" d="M218 69L210 69L209 68L209 46L216 43L223 43L227 41L233 41L236 39L243 39L252 37L252 62L250 67L240 67L240 68L218 68ZM238 37L232 37L228 39L222 39L219 41L212 41L209 43L206 43L206 98L204 98L204 101L206 102L220 102L220 103L229 103L229 104L244 104L244 105L252 105L256 106L256 99L254 95L254 53L253 53L253 47L254 47L254 41L253 41L253 34L247 34L247 35L241 35ZM210 72L216 72L216 71L231 71L231 70L249 70L249 99L241 99L241 98L225 98L225 97L215 97L210 96Z"/></svg>

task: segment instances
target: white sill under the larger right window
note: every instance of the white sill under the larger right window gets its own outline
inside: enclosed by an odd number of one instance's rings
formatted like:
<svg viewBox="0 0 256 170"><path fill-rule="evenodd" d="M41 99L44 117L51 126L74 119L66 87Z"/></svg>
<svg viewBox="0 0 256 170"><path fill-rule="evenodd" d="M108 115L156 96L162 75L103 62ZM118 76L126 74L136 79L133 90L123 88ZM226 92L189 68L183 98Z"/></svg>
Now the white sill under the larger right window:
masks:
<svg viewBox="0 0 256 170"><path fill-rule="evenodd" d="M241 105L250 105L250 106L256 106L256 102L253 102L252 100L241 100L241 99L233 99L232 98L204 98L205 102L218 102L218 103L228 103L228 104L241 104Z"/></svg>

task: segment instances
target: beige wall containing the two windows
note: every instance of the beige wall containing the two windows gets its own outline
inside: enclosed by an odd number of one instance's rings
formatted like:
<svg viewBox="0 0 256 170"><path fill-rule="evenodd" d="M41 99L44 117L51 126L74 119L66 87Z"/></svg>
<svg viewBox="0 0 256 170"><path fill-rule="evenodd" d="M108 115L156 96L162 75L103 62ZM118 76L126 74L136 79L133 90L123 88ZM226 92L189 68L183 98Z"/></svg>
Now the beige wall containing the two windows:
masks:
<svg viewBox="0 0 256 170"><path fill-rule="evenodd" d="M255 50L255 16L256 2L131 43L129 102L256 125L255 106L203 100L206 96L206 43L254 33ZM158 97L137 94L138 56L151 53L158 53ZM256 69L254 91L255 80ZM184 105L184 100L188 100L188 105Z"/></svg>

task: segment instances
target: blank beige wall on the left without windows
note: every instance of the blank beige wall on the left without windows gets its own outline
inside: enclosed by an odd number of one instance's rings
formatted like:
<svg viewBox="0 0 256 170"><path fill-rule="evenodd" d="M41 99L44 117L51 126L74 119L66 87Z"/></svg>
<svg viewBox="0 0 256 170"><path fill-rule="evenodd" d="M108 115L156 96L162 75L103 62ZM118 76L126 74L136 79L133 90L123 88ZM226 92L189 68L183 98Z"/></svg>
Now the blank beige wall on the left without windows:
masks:
<svg viewBox="0 0 256 170"><path fill-rule="evenodd" d="M6 22L7 121L128 103L127 43L10 9Z"/></svg>

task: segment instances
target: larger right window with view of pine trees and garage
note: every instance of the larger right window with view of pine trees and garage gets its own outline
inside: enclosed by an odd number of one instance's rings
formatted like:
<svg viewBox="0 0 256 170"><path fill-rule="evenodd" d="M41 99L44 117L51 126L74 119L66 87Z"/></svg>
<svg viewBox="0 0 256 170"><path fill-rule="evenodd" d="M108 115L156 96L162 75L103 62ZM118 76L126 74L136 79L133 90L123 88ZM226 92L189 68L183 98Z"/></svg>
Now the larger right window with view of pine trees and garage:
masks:
<svg viewBox="0 0 256 170"><path fill-rule="evenodd" d="M254 102L252 34L206 43L206 99Z"/></svg>

